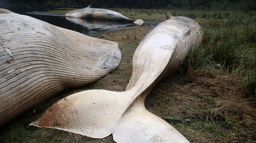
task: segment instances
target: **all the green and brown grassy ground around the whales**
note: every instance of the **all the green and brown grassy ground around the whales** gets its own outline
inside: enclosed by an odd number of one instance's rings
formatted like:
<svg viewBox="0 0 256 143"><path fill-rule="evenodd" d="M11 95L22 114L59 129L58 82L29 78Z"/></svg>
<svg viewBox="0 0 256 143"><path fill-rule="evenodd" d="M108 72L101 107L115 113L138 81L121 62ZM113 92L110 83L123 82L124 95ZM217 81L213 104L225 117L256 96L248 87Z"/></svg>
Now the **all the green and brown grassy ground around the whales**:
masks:
<svg viewBox="0 0 256 143"><path fill-rule="evenodd" d="M167 10L113 9L137 19L164 19ZM191 143L255 143L256 140L256 12L171 10L203 24L204 40L188 52L176 77L160 81L148 95L146 108L165 119ZM1 127L1 143L114 143L49 128L26 129L56 101L88 89L124 91L132 57L152 27L129 27L94 35L119 44L122 61L116 71L79 89L66 91ZM29 128L29 127L28 127Z"/></svg>

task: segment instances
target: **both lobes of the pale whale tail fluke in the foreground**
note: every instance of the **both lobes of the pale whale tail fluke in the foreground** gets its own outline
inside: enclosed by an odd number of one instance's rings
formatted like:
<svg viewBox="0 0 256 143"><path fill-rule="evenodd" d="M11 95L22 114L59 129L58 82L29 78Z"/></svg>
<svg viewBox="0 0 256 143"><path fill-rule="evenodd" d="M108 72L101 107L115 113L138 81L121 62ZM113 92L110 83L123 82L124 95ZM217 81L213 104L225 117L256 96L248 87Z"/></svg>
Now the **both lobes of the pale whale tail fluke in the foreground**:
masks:
<svg viewBox="0 0 256 143"><path fill-rule="evenodd" d="M144 100L133 101L131 93L100 89L77 92L49 107L30 125L93 138L113 134L117 143L189 143L173 126L150 113Z"/></svg>

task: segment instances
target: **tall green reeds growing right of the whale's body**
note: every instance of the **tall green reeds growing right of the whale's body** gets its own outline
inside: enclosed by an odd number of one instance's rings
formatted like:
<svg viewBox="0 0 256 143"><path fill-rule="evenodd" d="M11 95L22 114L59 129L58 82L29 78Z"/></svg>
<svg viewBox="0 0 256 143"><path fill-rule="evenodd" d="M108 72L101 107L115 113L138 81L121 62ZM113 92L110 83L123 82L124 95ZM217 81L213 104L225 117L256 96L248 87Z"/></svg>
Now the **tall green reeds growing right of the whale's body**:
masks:
<svg viewBox="0 0 256 143"><path fill-rule="evenodd" d="M252 20L213 20L203 29L203 44L189 52L193 59L191 69L239 73L241 77L237 78L245 86L255 84L252 73L256 72L256 24Z"/></svg>

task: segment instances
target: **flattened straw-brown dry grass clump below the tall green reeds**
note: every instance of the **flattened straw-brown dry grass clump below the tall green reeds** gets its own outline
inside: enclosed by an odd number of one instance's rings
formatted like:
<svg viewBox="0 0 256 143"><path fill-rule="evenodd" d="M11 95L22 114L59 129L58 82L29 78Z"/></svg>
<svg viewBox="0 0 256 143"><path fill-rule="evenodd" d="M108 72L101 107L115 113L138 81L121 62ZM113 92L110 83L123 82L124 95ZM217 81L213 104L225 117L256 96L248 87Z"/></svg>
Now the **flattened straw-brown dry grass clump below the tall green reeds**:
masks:
<svg viewBox="0 0 256 143"><path fill-rule="evenodd" d="M245 87L241 85L237 77L240 76L222 71L212 78L198 76L194 82L197 85L203 84L208 92L216 97L213 108L214 116L222 115L225 120L256 127L255 121L254 123L247 122L256 119L255 104L251 102L250 98L247 98Z"/></svg>

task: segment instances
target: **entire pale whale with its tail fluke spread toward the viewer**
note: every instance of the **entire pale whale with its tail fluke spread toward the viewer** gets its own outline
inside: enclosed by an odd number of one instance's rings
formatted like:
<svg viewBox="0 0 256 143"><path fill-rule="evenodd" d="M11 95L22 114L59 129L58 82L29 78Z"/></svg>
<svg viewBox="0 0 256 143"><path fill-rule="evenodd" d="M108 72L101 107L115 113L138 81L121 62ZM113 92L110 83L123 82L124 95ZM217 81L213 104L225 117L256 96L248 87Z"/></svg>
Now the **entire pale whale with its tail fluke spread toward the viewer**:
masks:
<svg viewBox="0 0 256 143"><path fill-rule="evenodd" d="M202 30L196 21L170 16L140 42L126 91L77 92L52 105L30 125L93 138L113 134L117 143L188 143L173 126L150 113L144 101L159 80L178 71L188 50L201 40Z"/></svg>

